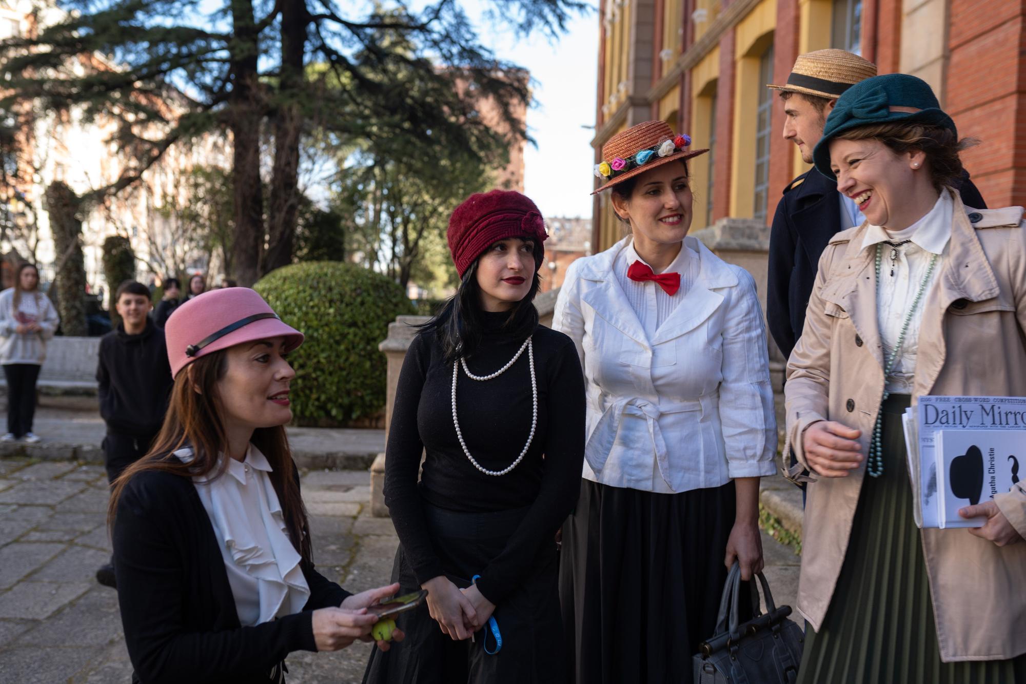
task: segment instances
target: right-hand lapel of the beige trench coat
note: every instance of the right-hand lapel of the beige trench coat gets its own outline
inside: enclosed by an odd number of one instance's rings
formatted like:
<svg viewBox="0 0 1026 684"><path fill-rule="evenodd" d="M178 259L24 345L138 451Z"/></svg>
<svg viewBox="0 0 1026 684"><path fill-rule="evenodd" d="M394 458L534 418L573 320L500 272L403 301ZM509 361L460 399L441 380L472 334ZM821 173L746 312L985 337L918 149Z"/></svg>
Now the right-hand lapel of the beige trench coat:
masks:
<svg viewBox="0 0 1026 684"><path fill-rule="evenodd" d="M917 393L929 394L944 368L947 341L944 339L944 316L955 300L982 302L997 297L1000 288L994 270L984 254L976 228L965 216L965 206L957 192L952 193L954 207L951 221L951 239L948 255L937 274L937 287L926 297L919 326L920 360L929 359L916 368Z"/></svg>

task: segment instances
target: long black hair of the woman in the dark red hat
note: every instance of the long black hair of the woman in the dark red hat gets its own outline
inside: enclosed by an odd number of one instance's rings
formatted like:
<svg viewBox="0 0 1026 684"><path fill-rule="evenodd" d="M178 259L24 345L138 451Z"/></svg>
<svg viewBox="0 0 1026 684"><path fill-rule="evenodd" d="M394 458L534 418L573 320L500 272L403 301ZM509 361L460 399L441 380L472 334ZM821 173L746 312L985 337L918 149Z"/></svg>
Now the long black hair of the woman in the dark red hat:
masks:
<svg viewBox="0 0 1026 684"><path fill-rule="evenodd" d="M525 242L535 243L534 238L521 238ZM537 248L538 245L535 244ZM474 355L481 343L481 286L477 283L477 264L480 257L474 260L470 268L463 274L460 288L456 295L448 299L435 317L418 326L421 334L435 333L442 345L443 360L451 364L460 356ZM514 339L526 339L538 328L538 309L535 308L535 295L542 281L538 275L541 265L536 260L535 273L530 280L530 291L509 310L509 316L503 324L503 332Z"/></svg>

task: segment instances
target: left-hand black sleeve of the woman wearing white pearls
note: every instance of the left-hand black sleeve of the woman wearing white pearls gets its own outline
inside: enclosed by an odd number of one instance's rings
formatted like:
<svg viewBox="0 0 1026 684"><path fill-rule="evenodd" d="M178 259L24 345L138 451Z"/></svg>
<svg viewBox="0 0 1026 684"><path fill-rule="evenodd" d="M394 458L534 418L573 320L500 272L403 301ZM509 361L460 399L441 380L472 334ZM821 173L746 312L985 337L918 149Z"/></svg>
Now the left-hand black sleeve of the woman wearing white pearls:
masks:
<svg viewBox="0 0 1026 684"><path fill-rule="evenodd" d="M418 335L406 352L395 390L392 424L385 448L385 503L399 535L403 555L421 584L444 574L424 522L424 507L418 489L424 444L417 425L417 410L431 362L429 344L424 335Z"/></svg>

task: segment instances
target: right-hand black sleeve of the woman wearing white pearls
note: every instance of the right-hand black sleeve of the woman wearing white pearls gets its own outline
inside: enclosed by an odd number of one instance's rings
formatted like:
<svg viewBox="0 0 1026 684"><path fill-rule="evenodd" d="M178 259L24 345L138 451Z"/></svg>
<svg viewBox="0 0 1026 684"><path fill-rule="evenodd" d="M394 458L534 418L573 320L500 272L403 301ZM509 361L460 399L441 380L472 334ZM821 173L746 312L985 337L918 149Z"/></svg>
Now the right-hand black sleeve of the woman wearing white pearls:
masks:
<svg viewBox="0 0 1026 684"><path fill-rule="evenodd" d="M574 341L549 363L548 431L542 487L503 552L481 571L477 588L494 604L521 583L543 544L555 545L559 526L577 505L585 444L585 389Z"/></svg>

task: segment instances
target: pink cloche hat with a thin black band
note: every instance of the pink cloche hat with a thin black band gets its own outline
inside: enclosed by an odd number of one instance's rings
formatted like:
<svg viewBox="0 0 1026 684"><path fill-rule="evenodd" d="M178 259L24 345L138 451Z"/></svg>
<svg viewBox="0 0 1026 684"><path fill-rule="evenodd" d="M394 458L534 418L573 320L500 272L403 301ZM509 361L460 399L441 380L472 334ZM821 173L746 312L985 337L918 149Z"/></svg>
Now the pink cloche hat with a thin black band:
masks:
<svg viewBox="0 0 1026 684"><path fill-rule="evenodd" d="M212 351L282 335L285 351L303 344L303 333L283 324L255 290L224 288L203 293L167 318L164 337L171 377Z"/></svg>

